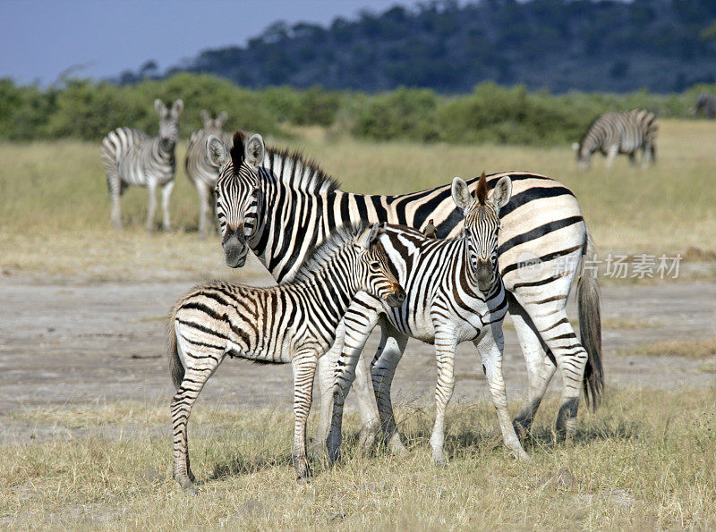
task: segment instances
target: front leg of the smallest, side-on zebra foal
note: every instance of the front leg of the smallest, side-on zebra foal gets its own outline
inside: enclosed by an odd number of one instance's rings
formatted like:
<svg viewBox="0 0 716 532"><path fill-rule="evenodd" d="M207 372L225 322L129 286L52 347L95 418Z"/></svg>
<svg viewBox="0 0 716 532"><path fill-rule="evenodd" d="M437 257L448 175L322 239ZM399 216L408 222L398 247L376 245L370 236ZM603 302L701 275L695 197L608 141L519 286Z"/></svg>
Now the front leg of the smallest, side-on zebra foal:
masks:
<svg viewBox="0 0 716 532"><path fill-rule="evenodd" d="M291 365L294 368L294 447L291 459L294 462L296 482L311 482L311 466L306 453L306 422L313 398L313 378L319 353L317 350L301 350L294 354Z"/></svg>

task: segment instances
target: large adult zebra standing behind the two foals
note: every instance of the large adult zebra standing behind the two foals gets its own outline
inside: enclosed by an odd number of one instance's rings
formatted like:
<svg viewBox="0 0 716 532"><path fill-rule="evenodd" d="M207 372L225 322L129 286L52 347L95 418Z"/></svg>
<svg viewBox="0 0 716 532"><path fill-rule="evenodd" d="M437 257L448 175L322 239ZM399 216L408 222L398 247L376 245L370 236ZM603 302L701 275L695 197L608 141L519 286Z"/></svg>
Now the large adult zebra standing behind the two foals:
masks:
<svg viewBox="0 0 716 532"><path fill-rule="evenodd" d="M234 145L243 138L237 131ZM221 145L220 139L209 139L209 150ZM455 207L450 185L397 196L353 194L338 190L336 181L301 154L265 150L260 136L251 138L248 149L263 158L258 179L243 179L229 160L217 181L217 215L227 266L243 266L251 249L278 283L286 283L302 266L308 251L333 228L362 220L418 230L431 220L439 238L462 231L463 215ZM529 377L516 426L529 429L559 367L564 385L557 428L564 435L575 430L580 390L584 387L587 403L596 408L603 387L599 285L593 269L579 266L583 257L592 258L592 242L579 204L564 185L542 175L510 172L488 176L488 188L494 188L505 175L512 182L513 193L499 212L499 271ZM467 182L471 192L477 183L478 178ZM577 274L581 342L566 313L567 296ZM334 357L340 349L334 345ZM396 350L382 354L380 367L373 367L380 375L374 376L389 387ZM328 378L323 378L324 372ZM330 393L332 368L322 367L320 374L323 398ZM371 392L370 379L359 375L356 394L362 421L373 427L379 412ZM390 419L381 419L387 426L394 419L389 394L383 397L388 402L380 412L391 412ZM325 441L330 412L328 402L322 400L321 406L319 439ZM397 436L393 444L396 449L402 446Z"/></svg>

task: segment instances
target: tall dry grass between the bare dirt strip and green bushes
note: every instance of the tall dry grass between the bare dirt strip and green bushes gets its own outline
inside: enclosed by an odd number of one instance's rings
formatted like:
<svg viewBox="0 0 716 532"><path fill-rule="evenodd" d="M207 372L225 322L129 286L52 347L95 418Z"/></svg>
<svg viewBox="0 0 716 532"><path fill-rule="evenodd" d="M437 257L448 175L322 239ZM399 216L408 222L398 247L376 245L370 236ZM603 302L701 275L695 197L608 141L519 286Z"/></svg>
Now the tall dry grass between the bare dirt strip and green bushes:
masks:
<svg viewBox="0 0 716 532"><path fill-rule="evenodd" d="M320 161L345 190L397 193L482 170L530 170L575 190L602 254L694 248L708 257L716 241L716 122L663 122L659 165L646 171L630 167L623 157L609 172L599 156L592 170L578 172L567 147L327 141L322 131L301 134L294 146ZM176 232L148 236L143 231L146 192L140 189L128 190L123 198L128 229L110 229L98 145L0 144L0 268L100 280L128 274L133 279L226 275L217 239L197 239L197 200L183 172L183 153L182 144L172 202Z"/></svg>

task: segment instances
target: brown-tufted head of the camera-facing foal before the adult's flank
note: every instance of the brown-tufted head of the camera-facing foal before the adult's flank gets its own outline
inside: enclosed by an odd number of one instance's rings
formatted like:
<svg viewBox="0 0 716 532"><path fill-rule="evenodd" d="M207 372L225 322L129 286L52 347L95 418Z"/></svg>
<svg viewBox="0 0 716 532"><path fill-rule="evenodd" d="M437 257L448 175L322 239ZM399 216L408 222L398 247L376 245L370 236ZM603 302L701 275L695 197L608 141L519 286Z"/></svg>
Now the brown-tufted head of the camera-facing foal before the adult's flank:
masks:
<svg viewBox="0 0 716 532"><path fill-rule="evenodd" d="M453 200L465 215L465 234L469 249L469 274L477 280L481 291L490 291L498 271L499 209L507 205L512 195L509 176L502 177L488 195L485 173L477 183L476 196L470 194L467 183L453 179Z"/></svg>

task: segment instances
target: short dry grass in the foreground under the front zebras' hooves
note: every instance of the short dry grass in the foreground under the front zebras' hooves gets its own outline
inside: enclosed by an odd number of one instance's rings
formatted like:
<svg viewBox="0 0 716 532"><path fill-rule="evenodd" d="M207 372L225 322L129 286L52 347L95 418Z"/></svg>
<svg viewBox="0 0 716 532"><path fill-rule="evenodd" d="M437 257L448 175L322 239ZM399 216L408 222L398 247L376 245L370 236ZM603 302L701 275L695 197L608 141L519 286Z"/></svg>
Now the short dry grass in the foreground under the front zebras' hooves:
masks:
<svg viewBox="0 0 716 532"><path fill-rule="evenodd" d="M573 443L550 443L538 420L517 463L499 445L494 412L449 410L447 468L430 464L431 412L401 410L411 451L314 464L309 486L290 465L292 417L198 406L192 415L197 497L170 477L166 405L40 409L5 423L2 526L109 528L713 528L716 391L609 393L583 415ZM542 411L556 411L555 404ZM23 427L30 427L24 430ZM54 427L49 433L43 427ZM24 430L24 432L23 432ZM47 436L47 434L50 434ZM46 439L30 439L46 435Z"/></svg>

